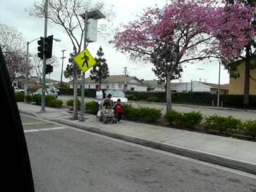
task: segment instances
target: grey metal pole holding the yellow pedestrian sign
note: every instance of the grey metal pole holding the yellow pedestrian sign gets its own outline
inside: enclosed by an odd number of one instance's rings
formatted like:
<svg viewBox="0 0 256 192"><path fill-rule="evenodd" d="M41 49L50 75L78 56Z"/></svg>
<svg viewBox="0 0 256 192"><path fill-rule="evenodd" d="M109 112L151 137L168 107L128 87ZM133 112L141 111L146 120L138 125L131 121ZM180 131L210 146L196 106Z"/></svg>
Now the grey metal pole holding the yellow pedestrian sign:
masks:
<svg viewBox="0 0 256 192"><path fill-rule="evenodd" d="M84 14L84 50L87 47L87 10ZM84 121L84 84L85 84L85 73L82 73L82 87L81 87L81 115L80 121Z"/></svg>

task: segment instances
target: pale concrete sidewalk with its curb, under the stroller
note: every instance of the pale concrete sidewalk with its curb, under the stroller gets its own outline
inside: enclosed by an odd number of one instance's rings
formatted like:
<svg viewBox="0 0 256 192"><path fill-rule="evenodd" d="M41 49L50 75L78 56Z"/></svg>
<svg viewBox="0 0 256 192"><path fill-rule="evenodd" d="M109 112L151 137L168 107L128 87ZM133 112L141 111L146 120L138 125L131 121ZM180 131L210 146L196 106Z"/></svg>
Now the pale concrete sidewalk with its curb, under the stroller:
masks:
<svg viewBox="0 0 256 192"><path fill-rule="evenodd" d="M256 142L129 121L102 124L87 114L85 122L79 122L70 120L72 115L65 110L46 108L42 113L40 106L27 103L18 107L21 113L256 174Z"/></svg>

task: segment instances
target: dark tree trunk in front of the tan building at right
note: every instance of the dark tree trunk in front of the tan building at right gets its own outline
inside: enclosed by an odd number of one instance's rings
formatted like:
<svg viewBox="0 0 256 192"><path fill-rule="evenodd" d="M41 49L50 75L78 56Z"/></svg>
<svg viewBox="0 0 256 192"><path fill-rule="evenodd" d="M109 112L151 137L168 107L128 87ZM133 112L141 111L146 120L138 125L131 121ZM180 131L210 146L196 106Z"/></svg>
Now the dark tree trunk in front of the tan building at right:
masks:
<svg viewBox="0 0 256 192"><path fill-rule="evenodd" d="M244 75L244 108L249 107L250 93L250 45L246 46L245 75Z"/></svg>

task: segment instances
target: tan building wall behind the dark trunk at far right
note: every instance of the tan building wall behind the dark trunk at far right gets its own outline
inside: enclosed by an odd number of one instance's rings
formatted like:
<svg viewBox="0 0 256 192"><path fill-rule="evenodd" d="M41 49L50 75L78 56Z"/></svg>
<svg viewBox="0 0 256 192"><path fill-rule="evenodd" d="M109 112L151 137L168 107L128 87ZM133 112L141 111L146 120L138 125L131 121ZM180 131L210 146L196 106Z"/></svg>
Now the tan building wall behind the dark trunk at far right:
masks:
<svg viewBox="0 0 256 192"><path fill-rule="evenodd" d="M245 65L241 63L237 70L240 74L238 78L229 78L229 94L244 94L244 73ZM251 76L256 78L256 69L251 70ZM250 94L256 95L256 81L250 79Z"/></svg>

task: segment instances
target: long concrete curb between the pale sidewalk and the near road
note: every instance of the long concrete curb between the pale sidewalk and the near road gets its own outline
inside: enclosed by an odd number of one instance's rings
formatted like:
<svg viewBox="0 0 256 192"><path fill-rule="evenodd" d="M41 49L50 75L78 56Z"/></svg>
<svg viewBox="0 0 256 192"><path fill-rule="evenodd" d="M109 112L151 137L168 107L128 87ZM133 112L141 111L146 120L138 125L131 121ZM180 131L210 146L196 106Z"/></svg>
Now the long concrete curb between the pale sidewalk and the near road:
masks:
<svg viewBox="0 0 256 192"><path fill-rule="evenodd" d="M256 174L256 163L253 163L253 162L246 162L241 159L235 159L235 158L222 156L222 155L218 155L218 154L211 154L211 153L207 153L205 151L200 151L200 150L196 150L196 149L192 149L192 148L186 148L186 147L182 147L182 146L178 146L178 145L172 145L169 143L167 144L167 143L164 143L161 141L135 137L133 135L116 133L113 131L103 130L98 127L81 125L76 122L70 122L66 119L54 119L51 121L54 121L54 122L57 122L60 124L65 124L68 126L73 126L78 129L85 130L85 131L90 131L90 132L106 135L108 137L112 137L115 139L121 139L124 141L137 143L137 144L140 144L143 146L152 147L152 148L156 148L156 149L160 149L160 150L165 150L165 151L169 151L174 154L187 156L187 157L199 159L199 160L202 160L205 162L219 164L222 166L231 167L233 169L242 170L245 172Z"/></svg>

